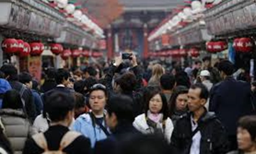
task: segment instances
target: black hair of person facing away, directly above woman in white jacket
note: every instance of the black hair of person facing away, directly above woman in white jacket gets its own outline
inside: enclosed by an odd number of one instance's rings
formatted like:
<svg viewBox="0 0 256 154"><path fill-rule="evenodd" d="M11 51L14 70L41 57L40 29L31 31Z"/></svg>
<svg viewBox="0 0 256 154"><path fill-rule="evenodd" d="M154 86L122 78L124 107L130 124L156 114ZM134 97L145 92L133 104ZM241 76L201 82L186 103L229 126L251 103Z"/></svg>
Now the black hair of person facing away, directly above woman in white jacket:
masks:
<svg viewBox="0 0 256 154"><path fill-rule="evenodd" d="M160 84L164 90L172 90L174 88L175 82L175 77L171 74L164 74L160 78Z"/></svg>

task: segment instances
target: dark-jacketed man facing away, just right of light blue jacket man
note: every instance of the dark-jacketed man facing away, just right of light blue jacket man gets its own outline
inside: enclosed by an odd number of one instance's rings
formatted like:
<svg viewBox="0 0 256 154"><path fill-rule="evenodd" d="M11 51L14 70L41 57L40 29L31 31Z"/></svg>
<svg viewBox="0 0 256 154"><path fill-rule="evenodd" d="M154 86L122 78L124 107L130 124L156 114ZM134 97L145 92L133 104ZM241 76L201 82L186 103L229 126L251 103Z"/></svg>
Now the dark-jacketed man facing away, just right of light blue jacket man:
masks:
<svg viewBox="0 0 256 154"><path fill-rule="evenodd" d="M114 95L107 107L106 123L112 134L98 141L95 154L116 154L122 141L140 134L133 126L132 99L125 95Z"/></svg>

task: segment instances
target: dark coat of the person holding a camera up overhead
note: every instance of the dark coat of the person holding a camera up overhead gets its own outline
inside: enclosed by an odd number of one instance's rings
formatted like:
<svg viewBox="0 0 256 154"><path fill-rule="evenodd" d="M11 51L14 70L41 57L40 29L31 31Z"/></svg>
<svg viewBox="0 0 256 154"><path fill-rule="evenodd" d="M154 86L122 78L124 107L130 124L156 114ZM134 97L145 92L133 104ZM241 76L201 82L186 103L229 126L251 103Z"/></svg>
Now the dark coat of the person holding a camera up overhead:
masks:
<svg viewBox="0 0 256 154"><path fill-rule="evenodd" d="M110 66L109 71L105 77L106 87L108 92L110 92L109 94L110 97L111 95L114 94L112 80L116 70L117 70L116 66L113 66L113 65ZM134 117L137 117L139 114L143 113L143 104L141 103L143 98L142 73L138 68L138 66L133 67L131 70L135 74L137 79L137 84L136 84L136 87L134 88L135 90L122 92L122 94L127 95L133 99Z"/></svg>

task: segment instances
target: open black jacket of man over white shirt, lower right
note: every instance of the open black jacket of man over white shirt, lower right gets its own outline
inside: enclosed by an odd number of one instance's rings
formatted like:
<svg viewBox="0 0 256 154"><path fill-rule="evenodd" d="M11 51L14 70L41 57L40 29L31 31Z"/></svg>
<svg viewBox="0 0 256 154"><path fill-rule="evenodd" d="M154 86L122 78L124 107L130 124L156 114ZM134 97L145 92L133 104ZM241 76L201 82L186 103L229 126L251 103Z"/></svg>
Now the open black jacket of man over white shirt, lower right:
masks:
<svg viewBox="0 0 256 154"><path fill-rule="evenodd" d="M191 115L176 123L171 146L174 154L189 154L192 145ZM226 154L229 151L224 127L213 112L205 112L198 121L201 133L200 154Z"/></svg>

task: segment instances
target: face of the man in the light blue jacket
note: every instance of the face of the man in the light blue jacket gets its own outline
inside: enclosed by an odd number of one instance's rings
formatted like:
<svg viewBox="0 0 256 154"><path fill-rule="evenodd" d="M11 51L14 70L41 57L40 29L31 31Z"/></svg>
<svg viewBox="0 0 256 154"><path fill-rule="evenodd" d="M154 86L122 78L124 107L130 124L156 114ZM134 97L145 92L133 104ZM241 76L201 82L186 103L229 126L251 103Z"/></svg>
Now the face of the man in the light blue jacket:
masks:
<svg viewBox="0 0 256 154"><path fill-rule="evenodd" d="M106 95L102 90L95 90L90 93L89 103L93 111L102 111L106 106Z"/></svg>

